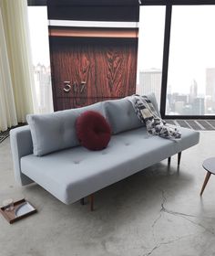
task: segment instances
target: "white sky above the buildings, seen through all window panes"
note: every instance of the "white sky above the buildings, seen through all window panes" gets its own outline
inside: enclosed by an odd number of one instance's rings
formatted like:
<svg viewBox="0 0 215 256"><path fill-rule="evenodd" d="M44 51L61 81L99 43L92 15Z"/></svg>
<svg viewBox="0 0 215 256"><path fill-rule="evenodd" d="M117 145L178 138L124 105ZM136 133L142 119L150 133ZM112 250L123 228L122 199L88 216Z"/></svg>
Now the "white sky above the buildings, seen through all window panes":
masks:
<svg viewBox="0 0 215 256"><path fill-rule="evenodd" d="M49 64L46 6L28 7L33 62ZM39 18L38 18L39 17ZM141 6L138 72L161 69L165 6ZM205 93L206 69L215 68L215 6L173 6L169 48L171 92L189 93L193 80Z"/></svg>

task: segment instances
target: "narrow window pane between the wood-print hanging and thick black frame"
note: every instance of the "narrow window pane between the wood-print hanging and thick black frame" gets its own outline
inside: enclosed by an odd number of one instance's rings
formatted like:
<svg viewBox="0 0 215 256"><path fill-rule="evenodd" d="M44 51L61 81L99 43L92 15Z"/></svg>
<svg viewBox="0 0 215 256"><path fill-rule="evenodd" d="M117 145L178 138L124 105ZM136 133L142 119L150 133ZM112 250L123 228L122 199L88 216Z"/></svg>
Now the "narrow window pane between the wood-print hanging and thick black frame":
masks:
<svg viewBox="0 0 215 256"><path fill-rule="evenodd" d="M165 6L140 6L137 93L154 92L160 104Z"/></svg>

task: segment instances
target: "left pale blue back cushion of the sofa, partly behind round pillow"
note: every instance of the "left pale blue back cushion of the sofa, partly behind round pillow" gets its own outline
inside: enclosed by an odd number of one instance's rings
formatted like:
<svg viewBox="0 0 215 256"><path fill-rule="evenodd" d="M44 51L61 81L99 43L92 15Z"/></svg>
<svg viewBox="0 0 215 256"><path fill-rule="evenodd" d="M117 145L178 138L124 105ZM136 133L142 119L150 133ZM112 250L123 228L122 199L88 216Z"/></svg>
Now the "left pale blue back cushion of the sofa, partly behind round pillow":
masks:
<svg viewBox="0 0 215 256"><path fill-rule="evenodd" d="M75 124L77 117L86 111L100 112L105 116L102 102L78 109L27 115L34 155L46 155L79 145Z"/></svg>

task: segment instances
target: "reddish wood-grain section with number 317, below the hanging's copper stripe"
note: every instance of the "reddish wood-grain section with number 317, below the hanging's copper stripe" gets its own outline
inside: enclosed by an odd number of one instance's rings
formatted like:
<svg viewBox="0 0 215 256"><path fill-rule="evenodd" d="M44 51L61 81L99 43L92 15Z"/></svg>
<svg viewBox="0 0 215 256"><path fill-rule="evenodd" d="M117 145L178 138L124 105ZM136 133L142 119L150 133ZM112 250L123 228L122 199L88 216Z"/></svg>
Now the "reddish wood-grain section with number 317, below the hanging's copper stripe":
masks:
<svg viewBox="0 0 215 256"><path fill-rule="evenodd" d="M79 99L69 101L70 108L80 107L81 102L86 105L92 102L90 99L121 98L135 93L136 39L55 38L51 40L51 63L55 100ZM71 81L69 93L63 91L65 80ZM82 81L86 81L86 86ZM62 109L64 104L60 105Z"/></svg>

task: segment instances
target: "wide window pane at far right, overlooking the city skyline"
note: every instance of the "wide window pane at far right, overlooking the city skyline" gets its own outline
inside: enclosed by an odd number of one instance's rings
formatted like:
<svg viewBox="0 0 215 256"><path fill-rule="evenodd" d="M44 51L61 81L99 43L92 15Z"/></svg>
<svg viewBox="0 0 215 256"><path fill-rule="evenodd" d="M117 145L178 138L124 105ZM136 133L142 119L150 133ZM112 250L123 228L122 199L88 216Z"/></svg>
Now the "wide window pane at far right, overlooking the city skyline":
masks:
<svg viewBox="0 0 215 256"><path fill-rule="evenodd" d="M215 114L215 6L173 6L166 114Z"/></svg>

